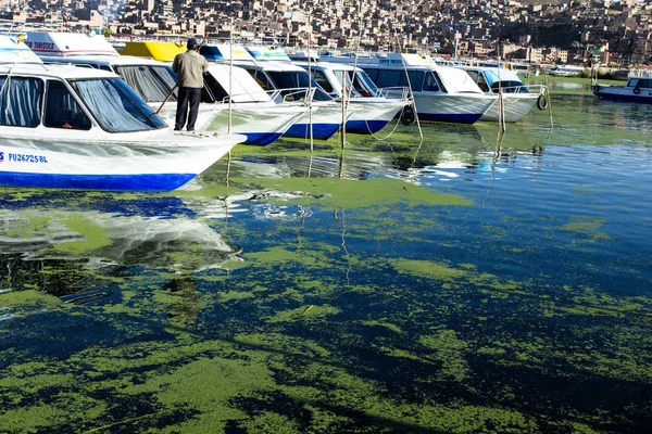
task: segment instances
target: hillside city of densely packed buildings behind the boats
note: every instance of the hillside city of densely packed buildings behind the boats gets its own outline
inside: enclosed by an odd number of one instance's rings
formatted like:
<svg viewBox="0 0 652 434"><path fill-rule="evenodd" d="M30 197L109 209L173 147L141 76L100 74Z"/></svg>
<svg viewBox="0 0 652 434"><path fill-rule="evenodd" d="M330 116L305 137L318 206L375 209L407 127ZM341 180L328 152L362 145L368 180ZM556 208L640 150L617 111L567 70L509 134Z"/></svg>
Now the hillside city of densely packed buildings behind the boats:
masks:
<svg viewBox="0 0 652 434"><path fill-rule="evenodd" d="M652 64L652 0L0 0L0 18L106 36L620 67Z"/></svg>

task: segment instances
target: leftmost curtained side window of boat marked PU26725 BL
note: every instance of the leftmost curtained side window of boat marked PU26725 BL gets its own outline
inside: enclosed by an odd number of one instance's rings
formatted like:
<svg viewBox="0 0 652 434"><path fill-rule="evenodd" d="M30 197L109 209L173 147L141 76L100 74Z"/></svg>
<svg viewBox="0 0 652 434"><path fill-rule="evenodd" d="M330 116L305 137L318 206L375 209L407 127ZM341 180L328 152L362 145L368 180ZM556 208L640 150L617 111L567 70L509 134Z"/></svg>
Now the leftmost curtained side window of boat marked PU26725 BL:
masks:
<svg viewBox="0 0 652 434"><path fill-rule="evenodd" d="M42 80L0 77L0 125L37 127L40 124L42 94Z"/></svg>

